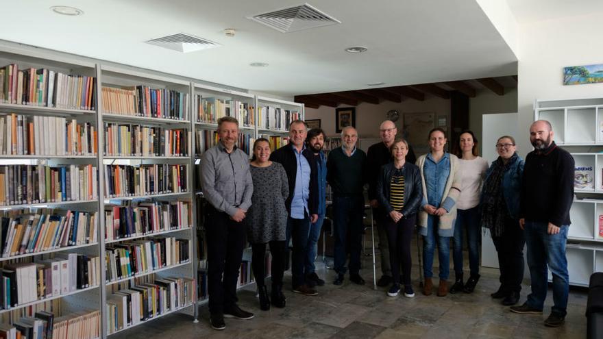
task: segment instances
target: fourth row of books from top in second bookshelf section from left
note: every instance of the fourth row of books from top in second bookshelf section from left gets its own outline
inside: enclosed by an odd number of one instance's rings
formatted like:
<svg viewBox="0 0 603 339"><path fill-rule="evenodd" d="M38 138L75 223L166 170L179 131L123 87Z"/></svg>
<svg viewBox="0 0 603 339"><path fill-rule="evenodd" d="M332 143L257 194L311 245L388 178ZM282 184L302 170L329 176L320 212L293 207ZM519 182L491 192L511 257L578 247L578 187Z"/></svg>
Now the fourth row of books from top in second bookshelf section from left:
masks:
<svg viewBox="0 0 603 339"><path fill-rule="evenodd" d="M105 206L105 239L108 241L143 236L192 225L188 201L136 203Z"/></svg>

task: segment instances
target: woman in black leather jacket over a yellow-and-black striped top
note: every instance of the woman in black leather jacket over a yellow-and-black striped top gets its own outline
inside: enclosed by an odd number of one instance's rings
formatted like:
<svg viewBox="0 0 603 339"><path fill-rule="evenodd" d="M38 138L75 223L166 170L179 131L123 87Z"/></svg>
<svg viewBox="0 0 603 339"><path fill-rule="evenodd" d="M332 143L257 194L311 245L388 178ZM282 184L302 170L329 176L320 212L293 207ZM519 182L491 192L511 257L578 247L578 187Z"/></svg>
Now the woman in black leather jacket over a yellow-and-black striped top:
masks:
<svg viewBox="0 0 603 339"><path fill-rule="evenodd" d="M395 297L400 292L400 284L404 284L404 297L415 297L410 284L410 240L417 220L417 210L423 199L421 175L415 164L406 162L408 142L397 139L391 145L390 153L393 162L381 167L377 179L376 193L379 205L387 213L383 218L389 243L389 259L393 285L387 292ZM400 264L402 263L402 279Z"/></svg>

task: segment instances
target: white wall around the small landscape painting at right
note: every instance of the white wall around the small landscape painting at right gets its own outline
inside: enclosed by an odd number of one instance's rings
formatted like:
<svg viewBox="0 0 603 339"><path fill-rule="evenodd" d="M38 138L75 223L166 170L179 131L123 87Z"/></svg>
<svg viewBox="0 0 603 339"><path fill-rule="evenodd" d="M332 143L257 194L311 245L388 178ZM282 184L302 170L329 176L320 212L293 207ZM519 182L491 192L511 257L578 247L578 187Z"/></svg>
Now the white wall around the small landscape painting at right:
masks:
<svg viewBox="0 0 603 339"><path fill-rule="evenodd" d="M532 149L528 126L535 99L603 97L603 84L563 86L563 67L603 63L600 15L519 25L518 95L521 155Z"/></svg>

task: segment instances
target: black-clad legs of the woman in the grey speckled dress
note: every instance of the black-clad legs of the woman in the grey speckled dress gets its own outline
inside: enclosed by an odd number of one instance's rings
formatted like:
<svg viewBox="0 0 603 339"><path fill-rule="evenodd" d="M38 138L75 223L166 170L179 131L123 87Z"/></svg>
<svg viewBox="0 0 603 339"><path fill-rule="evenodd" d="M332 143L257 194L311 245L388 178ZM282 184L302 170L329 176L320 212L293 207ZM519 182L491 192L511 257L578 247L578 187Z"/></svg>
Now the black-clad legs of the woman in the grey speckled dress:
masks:
<svg viewBox="0 0 603 339"><path fill-rule="evenodd" d="M285 268L285 242L282 241L271 241L268 242L270 245L270 254L272 255L272 262L270 264L270 275L272 279L272 285L282 286L282 276ZM266 243L263 244L251 244L251 266L254 269L254 277L256 278L256 285L258 287L264 286L266 277Z"/></svg>

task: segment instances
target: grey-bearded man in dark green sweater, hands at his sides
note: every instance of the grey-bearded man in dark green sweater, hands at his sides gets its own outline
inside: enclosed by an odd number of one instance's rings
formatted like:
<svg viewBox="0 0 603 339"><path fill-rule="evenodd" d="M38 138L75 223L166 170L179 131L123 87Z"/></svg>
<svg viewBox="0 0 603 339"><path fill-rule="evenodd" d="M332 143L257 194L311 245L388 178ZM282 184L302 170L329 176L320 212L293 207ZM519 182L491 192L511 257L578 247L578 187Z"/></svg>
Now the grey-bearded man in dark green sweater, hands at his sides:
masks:
<svg viewBox="0 0 603 339"><path fill-rule="evenodd" d="M358 141L356 129L352 126L343 128L342 146L330 151L327 160L327 181L333 190L334 269L337 273L333 281L335 285L343 284L347 243L349 243L349 279L358 285L365 284L359 273L367 155L356 148L356 141Z"/></svg>

